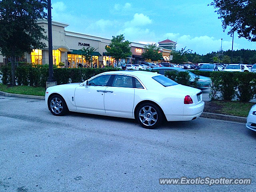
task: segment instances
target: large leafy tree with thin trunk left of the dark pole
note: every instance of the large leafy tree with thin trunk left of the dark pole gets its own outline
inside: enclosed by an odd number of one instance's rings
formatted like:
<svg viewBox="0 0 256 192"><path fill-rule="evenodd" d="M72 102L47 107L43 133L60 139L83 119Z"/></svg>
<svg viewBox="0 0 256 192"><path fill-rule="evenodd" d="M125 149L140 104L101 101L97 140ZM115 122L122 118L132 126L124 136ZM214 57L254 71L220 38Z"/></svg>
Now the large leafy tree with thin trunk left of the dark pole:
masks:
<svg viewBox="0 0 256 192"><path fill-rule="evenodd" d="M0 52L11 57L12 86L15 82L15 57L31 52L33 48L46 46L41 40L44 28L36 24L46 19L47 0L1 0L0 1Z"/></svg>

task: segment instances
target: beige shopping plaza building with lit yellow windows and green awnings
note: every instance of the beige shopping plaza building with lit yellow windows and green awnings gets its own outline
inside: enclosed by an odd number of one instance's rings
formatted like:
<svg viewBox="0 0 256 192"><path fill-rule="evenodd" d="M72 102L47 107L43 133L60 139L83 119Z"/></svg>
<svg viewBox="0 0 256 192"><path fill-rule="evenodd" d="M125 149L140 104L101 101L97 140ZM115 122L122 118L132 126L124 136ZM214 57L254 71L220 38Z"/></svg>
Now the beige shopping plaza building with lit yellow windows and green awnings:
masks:
<svg viewBox="0 0 256 192"><path fill-rule="evenodd" d="M47 20L38 20L38 25L42 26L48 35L48 22ZM106 52L106 46L111 42L111 39L91 36L82 33L66 31L65 28L68 26L66 23L52 21L52 55L53 64L59 65L60 62L68 68L84 67L97 67L114 66L116 62L114 58L108 56ZM44 43L48 46L48 42L44 40ZM173 46L168 45L168 42L164 43L165 46L160 47L160 52L163 54L163 58L159 62L169 62L170 52L175 50L176 44ZM128 64L139 64L142 59L142 53L145 51L146 44L140 44L131 42L132 55L128 58L122 59L122 62ZM93 47L96 50L93 52L93 63L92 66L86 63L82 58L81 48ZM48 47L44 49L34 48L31 53L25 53L24 56L16 58L16 61L24 61L34 64L48 64ZM5 58L0 55L0 65L7 64L10 62L10 58Z"/></svg>

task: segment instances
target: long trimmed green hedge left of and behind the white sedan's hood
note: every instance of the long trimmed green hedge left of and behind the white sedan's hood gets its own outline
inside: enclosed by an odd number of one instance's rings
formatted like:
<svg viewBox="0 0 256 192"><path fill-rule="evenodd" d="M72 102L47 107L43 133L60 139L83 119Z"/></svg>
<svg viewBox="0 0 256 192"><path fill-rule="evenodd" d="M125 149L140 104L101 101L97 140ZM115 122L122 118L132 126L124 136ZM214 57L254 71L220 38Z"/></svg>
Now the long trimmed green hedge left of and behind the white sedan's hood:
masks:
<svg viewBox="0 0 256 192"><path fill-rule="evenodd" d="M97 74L106 71L116 71L119 68L54 68L53 76L57 84L83 82ZM16 67L15 78L18 85L46 86L49 69L45 66L18 66ZM11 67L2 66L2 83L11 83Z"/></svg>

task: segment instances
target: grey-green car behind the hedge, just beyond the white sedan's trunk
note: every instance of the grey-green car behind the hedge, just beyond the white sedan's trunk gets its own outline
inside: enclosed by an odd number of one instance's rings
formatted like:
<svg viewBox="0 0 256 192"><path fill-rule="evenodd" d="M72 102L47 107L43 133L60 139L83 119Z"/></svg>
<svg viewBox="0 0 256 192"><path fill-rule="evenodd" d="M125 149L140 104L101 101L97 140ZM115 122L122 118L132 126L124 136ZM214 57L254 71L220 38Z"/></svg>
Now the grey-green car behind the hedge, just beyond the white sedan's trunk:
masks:
<svg viewBox="0 0 256 192"><path fill-rule="evenodd" d="M152 70L158 70L159 74L164 75L164 72L166 71L175 71L175 72L181 72L181 71L187 71L190 75L190 83L194 82L196 78L196 74L192 73L190 70L185 70L182 68L177 68L177 67L161 67L161 68L153 68ZM212 84L212 80L209 77L205 76L198 76L198 88L199 89L207 89L210 88Z"/></svg>

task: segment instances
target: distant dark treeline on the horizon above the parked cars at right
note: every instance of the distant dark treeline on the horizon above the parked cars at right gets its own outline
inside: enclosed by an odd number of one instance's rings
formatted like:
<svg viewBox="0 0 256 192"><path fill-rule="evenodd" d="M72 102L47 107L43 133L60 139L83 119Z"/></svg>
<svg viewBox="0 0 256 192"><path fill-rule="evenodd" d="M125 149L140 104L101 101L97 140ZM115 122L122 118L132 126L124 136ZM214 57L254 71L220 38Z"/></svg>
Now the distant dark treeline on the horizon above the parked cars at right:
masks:
<svg viewBox="0 0 256 192"><path fill-rule="evenodd" d="M256 50L241 49L233 51L233 60L231 62L232 51L227 50L222 52L212 52L206 55L199 55L196 52L187 54L188 61L193 63L243 63L255 64L256 63Z"/></svg>

